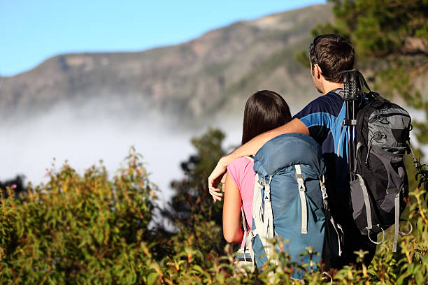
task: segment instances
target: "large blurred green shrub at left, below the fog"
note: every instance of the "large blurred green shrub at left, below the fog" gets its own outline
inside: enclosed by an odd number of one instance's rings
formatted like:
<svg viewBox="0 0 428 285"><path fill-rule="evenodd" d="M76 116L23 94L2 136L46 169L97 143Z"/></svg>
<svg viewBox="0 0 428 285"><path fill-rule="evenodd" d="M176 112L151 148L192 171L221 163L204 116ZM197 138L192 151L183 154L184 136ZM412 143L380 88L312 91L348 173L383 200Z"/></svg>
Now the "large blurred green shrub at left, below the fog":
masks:
<svg viewBox="0 0 428 285"><path fill-rule="evenodd" d="M141 279L141 242L150 235L156 187L134 149L111 180L102 166L78 175L66 164L47 175L50 181L30 185L22 200L1 199L0 283Z"/></svg>

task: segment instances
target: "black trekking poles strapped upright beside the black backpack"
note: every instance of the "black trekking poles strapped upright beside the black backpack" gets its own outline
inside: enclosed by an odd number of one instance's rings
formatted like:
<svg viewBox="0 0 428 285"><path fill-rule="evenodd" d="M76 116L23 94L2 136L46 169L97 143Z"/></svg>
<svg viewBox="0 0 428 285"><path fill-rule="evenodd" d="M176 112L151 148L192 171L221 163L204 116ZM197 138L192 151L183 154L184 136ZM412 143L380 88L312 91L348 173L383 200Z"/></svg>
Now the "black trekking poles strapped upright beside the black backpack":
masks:
<svg viewBox="0 0 428 285"><path fill-rule="evenodd" d="M346 115L343 125L348 129L348 161L350 180L355 180L355 126L357 125L357 112L355 110L355 101L357 101L357 90L359 71L352 69L341 71L343 80L343 100L346 103Z"/></svg>

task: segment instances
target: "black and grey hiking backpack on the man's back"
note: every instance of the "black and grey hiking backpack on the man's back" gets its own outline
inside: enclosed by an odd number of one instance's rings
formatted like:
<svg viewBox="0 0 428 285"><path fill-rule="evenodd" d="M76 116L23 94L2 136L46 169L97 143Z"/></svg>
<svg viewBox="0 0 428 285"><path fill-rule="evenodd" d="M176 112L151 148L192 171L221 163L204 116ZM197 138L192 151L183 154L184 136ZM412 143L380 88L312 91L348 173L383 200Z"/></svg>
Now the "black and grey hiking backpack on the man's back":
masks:
<svg viewBox="0 0 428 285"><path fill-rule="evenodd" d="M385 230L394 224L393 252L398 235L412 231L399 231L399 217L408 198L403 156L410 150L410 130L411 117L404 108L376 92L361 98L355 126L356 179L350 182L352 214L359 231L375 244L385 240ZM380 232L382 241L371 239Z"/></svg>

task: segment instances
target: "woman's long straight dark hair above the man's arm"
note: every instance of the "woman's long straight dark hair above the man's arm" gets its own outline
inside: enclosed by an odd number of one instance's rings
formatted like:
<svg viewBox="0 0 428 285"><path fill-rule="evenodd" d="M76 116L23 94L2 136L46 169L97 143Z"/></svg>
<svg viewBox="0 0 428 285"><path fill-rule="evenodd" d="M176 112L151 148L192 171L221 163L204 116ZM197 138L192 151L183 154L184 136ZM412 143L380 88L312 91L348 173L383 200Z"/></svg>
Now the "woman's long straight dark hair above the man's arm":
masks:
<svg viewBox="0 0 428 285"><path fill-rule="evenodd" d="M290 120L290 108L280 94L269 90L256 92L245 103L242 144Z"/></svg>

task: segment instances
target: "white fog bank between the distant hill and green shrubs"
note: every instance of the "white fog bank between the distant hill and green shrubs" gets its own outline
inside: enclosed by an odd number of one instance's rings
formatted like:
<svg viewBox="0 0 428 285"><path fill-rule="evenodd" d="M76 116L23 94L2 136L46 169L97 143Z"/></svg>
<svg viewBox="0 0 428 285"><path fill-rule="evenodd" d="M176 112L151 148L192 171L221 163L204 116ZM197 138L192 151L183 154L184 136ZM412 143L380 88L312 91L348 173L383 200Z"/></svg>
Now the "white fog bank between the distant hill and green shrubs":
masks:
<svg viewBox="0 0 428 285"><path fill-rule="evenodd" d="M237 145L241 140L241 122L236 119L221 123L227 133L224 147ZM75 112L60 108L25 123L0 126L0 180L22 174L25 182L47 182L46 168L52 167L54 158L55 168L67 160L80 174L102 159L111 177L120 168L129 147L134 146L143 155L145 168L151 173L150 181L162 190L159 196L164 203L171 197L171 180L183 177L180 162L195 153L190 139L207 129L204 126L178 131L167 129L160 122L107 115L76 119Z"/></svg>

